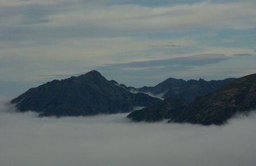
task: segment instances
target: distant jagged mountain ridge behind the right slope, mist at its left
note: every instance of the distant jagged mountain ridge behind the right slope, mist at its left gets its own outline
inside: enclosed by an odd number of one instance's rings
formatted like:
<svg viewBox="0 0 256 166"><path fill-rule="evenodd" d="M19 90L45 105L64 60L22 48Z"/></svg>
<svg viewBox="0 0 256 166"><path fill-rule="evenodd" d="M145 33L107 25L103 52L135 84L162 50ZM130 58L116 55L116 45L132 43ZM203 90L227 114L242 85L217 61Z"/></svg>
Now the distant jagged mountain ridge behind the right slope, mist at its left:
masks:
<svg viewBox="0 0 256 166"><path fill-rule="evenodd" d="M138 92L151 93L154 96L162 98L185 98L188 101L193 101L196 97L204 96L214 90L221 88L234 78L226 78L225 80L205 81L199 80L182 80L175 78L168 78L156 86L143 86L138 88Z"/></svg>

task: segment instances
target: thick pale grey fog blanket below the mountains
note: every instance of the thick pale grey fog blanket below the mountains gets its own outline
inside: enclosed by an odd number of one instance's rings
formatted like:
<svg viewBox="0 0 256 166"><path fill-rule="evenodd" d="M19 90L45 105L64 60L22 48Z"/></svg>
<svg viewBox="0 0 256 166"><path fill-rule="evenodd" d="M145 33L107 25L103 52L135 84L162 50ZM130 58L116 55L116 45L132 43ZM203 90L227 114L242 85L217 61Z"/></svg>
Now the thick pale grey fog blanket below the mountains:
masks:
<svg viewBox="0 0 256 166"><path fill-rule="evenodd" d="M0 165L255 165L256 115L224 126L132 123L127 114L38 118L0 105Z"/></svg>

